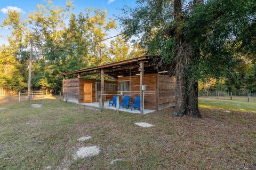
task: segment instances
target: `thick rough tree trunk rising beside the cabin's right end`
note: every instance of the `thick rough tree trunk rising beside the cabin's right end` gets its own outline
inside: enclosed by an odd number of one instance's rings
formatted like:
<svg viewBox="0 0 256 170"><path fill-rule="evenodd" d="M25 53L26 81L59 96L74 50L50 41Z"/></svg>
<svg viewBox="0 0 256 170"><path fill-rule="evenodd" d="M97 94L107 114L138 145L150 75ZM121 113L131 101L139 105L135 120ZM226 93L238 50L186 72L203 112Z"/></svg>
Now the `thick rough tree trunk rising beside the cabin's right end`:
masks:
<svg viewBox="0 0 256 170"><path fill-rule="evenodd" d="M196 0L194 3L202 3L203 0ZM180 32L181 18L181 0L174 0L174 20L176 22L175 42L177 51L175 55L176 62L176 88L175 88L175 111L174 115L189 116L200 118L201 114L198 109L198 82L190 79L194 77L192 71L187 69L192 68L193 62L199 59L199 50L195 53L188 51L191 49L191 44L186 44L183 35ZM192 50L193 51L193 50ZM187 75L189 74L189 75Z"/></svg>

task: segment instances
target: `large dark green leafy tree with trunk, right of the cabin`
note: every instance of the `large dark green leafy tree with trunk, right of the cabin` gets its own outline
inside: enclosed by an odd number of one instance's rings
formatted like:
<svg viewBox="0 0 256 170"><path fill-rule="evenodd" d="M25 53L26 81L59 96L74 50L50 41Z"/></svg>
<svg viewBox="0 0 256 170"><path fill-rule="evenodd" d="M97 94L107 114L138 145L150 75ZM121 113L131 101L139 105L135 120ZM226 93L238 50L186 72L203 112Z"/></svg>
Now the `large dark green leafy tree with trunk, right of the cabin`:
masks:
<svg viewBox="0 0 256 170"><path fill-rule="evenodd" d="M147 54L160 56L177 77L176 101L183 104L176 114L193 115L198 81L224 78L231 88L246 79L241 67L255 67L255 5L254 0L138 0L119 20L127 39L135 37Z"/></svg>

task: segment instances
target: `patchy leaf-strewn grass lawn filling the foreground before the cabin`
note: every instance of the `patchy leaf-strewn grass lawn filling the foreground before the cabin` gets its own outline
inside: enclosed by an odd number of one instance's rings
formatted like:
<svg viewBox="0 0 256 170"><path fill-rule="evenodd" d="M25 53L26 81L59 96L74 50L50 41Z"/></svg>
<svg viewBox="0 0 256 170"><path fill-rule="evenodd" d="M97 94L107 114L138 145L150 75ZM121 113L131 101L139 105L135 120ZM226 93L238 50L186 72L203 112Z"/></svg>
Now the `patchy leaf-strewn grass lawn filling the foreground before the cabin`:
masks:
<svg viewBox="0 0 256 170"><path fill-rule="evenodd" d="M200 101L201 106L210 102ZM33 108L32 103L43 106ZM203 118L195 119L175 117L173 109L117 115L54 99L4 103L0 169L256 168L256 114L214 107L201 108ZM137 122L154 126L143 128ZM77 141L82 136L92 138ZM74 160L80 147L93 145L100 148L99 155ZM114 159L121 160L110 164Z"/></svg>

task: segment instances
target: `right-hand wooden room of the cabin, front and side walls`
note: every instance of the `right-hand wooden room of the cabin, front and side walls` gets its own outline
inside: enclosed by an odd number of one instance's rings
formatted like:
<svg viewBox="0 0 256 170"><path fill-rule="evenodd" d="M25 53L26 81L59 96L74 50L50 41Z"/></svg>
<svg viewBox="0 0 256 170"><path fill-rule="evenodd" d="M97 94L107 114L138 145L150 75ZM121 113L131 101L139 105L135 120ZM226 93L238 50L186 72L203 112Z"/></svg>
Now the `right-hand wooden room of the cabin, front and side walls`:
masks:
<svg viewBox="0 0 256 170"><path fill-rule="evenodd" d="M130 95L131 99L140 95L140 76L118 77L118 93ZM175 104L175 78L161 74L145 74L145 109L161 110ZM133 101L133 100L132 100Z"/></svg>

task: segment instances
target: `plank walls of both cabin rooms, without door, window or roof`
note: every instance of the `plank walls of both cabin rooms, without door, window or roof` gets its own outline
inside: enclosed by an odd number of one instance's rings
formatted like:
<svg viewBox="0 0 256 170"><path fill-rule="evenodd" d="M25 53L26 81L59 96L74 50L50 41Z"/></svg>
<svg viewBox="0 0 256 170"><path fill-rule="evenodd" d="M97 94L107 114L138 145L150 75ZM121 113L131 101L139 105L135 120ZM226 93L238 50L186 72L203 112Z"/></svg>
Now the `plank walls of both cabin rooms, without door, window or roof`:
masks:
<svg viewBox="0 0 256 170"><path fill-rule="evenodd" d="M140 95L140 76L118 77L119 81L131 80L131 92L123 92L124 95L131 95L131 102L135 96ZM63 79L63 91L68 92L68 100L79 103L84 102L84 82L92 82L92 102L96 102L96 89L94 79ZM175 106L175 77L169 77L159 74L145 74L143 85L146 85L145 91L145 109L161 110L167 107ZM114 82L115 83L115 82ZM115 94L116 91L106 91L105 93ZM118 83L118 93L119 83ZM109 95L108 98L113 98Z"/></svg>

